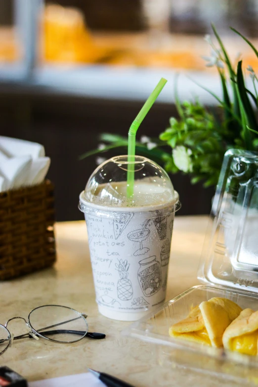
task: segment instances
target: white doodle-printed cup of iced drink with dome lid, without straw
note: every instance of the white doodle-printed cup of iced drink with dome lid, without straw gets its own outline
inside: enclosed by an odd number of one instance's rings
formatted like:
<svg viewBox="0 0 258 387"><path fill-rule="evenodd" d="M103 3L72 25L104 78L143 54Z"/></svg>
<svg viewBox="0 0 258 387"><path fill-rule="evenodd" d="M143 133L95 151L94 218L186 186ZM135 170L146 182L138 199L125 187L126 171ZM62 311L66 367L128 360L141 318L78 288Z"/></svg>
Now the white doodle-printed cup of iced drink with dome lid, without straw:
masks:
<svg viewBox="0 0 258 387"><path fill-rule="evenodd" d="M80 194L85 213L96 302L106 317L133 321L166 296L174 213L168 174L135 156L133 195L127 195L128 156L101 164Z"/></svg>

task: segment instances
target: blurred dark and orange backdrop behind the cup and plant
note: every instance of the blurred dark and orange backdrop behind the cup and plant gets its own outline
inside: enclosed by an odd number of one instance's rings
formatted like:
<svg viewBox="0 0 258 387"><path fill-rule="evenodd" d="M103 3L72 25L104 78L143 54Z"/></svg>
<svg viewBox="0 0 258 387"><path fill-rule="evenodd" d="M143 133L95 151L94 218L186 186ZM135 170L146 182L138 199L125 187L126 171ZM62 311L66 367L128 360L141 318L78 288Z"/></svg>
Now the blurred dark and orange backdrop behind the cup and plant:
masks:
<svg viewBox="0 0 258 387"><path fill-rule="evenodd" d="M57 220L82 218L79 193L96 168L98 134L127 135L161 77L168 84L139 129L158 136L176 116L174 79L182 100L215 100L187 76L220 94L204 35L214 22L232 57L240 51L257 70L233 26L258 43L258 0L0 0L0 134L40 142L51 158ZM108 154L111 157L112 153ZM208 214L214 189L171 176L180 215Z"/></svg>

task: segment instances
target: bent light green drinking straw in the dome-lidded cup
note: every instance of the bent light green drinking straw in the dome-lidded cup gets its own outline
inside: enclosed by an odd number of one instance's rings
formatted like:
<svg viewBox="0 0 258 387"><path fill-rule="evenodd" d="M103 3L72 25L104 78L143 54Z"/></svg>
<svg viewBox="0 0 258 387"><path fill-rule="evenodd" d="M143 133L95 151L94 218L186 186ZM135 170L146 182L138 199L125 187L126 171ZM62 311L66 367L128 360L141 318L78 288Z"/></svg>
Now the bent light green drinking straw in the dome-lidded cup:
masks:
<svg viewBox="0 0 258 387"><path fill-rule="evenodd" d="M142 106L137 117L132 122L129 132L128 132L128 171L127 171L127 197L130 198L133 195L133 185L134 185L134 160L135 160L135 137L136 132L145 118L146 114L158 98L163 87L168 81L165 78L161 78L158 85L152 91L151 95Z"/></svg>

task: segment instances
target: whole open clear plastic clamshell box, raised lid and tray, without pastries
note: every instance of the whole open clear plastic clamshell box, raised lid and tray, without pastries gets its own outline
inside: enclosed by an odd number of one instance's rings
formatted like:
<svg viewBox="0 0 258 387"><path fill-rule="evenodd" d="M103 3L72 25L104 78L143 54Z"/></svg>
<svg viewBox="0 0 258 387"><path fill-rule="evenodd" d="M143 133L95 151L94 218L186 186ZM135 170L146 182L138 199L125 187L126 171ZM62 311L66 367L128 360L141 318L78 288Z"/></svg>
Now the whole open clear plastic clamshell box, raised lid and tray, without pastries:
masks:
<svg viewBox="0 0 258 387"><path fill-rule="evenodd" d="M169 328L192 306L222 297L258 310L258 154L225 154L207 229L198 279L190 288L123 334L156 344L158 361L258 384L258 356L172 338ZM257 260L256 260L257 258Z"/></svg>

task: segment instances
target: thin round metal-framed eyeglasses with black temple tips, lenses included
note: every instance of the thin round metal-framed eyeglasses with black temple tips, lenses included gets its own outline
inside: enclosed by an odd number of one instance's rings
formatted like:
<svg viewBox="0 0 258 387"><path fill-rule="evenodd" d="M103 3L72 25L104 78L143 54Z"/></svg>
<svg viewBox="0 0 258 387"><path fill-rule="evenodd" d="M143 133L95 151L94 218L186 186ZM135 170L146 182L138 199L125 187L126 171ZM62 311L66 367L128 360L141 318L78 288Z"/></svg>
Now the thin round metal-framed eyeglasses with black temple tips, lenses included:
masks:
<svg viewBox="0 0 258 387"><path fill-rule="evenodd" d="M39 306L30 312L28 321L24 317L12 317L5 325L0 324L0 355L8 349L13 340L25 338L37 340L43 338L65 344L79 342L85 337L104 339L106 337L104 333L88 332L86 317L85 313L62 305ZM18 318L25 321L28 333L12 337L7 325L10 321ZM62 325L62 329L59 329L60 325Z"/></svg>

